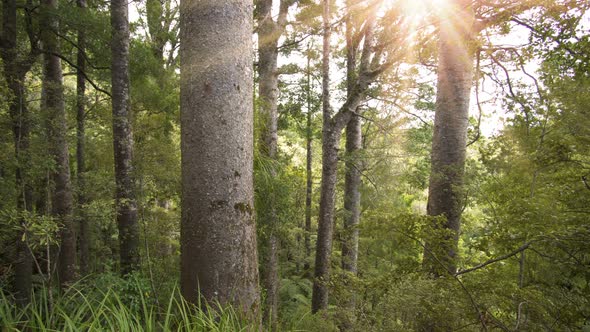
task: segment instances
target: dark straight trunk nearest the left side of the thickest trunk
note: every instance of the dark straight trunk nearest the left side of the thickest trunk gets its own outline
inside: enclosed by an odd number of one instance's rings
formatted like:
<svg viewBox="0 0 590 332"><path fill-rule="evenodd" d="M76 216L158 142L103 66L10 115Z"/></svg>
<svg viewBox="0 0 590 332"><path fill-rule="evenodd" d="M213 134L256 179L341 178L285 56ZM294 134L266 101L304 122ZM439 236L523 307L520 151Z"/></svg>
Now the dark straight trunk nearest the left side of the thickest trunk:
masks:
<svg viewBox="0 0 590 332"><path fill-rule="evenodd" d="M113 145L121 274L139 268L139 226L133 181L133 136L129 104L129 8L111 1Z"/></svg>

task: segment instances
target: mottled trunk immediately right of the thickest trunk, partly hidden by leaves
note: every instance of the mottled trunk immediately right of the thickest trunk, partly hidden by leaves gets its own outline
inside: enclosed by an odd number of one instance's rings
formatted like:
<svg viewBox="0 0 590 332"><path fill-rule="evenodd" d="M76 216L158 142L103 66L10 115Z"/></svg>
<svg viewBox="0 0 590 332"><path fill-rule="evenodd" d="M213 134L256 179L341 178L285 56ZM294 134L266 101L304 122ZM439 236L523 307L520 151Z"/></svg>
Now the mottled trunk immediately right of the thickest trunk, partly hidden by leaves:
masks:
<svg viewBox="0 0 590 332"><path fill-rule="evenodd" d="M288 1L282 0L279 16L275 22L272 18L272 0L260 0L257 2L258 12L258 76L259 76L259 115L264 125L260 135L260 152L262 156L276 159L277 154L277 102L279 95L279 74L277 70L278 42L281 37L289 8ZM276 173L271 169L272 173ZM273 176L275 174L272 174ZM270 330L276 329L278 313L278 289L279 289L279 239L277 237L278 219L276 213L276 198L270 193L268 204L270 213L265 216L265 222L269 226L269 235L266 239L268 248L267 257L264 258L263 286L266 289L266 303L264 306L263 320Z"/></svg>

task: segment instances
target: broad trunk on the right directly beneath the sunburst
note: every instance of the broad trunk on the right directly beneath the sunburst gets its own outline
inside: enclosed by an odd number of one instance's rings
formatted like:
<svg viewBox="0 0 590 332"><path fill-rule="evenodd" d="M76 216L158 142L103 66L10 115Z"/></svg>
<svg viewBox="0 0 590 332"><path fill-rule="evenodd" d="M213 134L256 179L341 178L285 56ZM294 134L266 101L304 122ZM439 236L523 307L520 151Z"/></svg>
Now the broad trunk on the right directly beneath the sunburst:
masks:
<svg viewBox="0 0 590 332"><path fill-rule="evenodd" d="M467 0L449 3L456 18L441 20L439 33L438 82L432 166L428 189L429 216L444 217L444 235L429 241L424 268L433 276L455 273L457 245L463 205L463 173L469 120L469 97L473 80L474 16ZM433 257L436 255L438 260ZM440 262L439 262L440 261ZM442 264L441 264L442 263ZM442 265L442 266L441 266Z"/></svg>

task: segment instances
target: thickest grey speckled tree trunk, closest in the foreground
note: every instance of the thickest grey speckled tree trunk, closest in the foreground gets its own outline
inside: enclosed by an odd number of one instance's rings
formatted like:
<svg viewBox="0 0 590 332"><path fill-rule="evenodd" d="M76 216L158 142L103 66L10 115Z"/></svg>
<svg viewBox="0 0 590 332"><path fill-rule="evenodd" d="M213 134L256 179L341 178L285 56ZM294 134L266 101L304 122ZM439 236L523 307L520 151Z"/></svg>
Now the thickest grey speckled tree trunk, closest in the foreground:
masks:
<svg viewBox="0 0 590 332"><path fill-rule="evenodd" d="M252 1L181 2L181 290L256 315Z"/></svg>

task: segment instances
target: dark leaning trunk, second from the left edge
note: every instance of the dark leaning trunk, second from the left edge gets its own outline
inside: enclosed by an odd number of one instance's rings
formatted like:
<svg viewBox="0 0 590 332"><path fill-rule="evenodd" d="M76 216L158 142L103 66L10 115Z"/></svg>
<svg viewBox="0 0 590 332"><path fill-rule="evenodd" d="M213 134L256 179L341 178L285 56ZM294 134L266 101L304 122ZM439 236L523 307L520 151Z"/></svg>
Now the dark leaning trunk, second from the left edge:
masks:
<svg viewBox="0 0 590 332"><path fill-rule="evenodd" d="M55 161L52 173L53 195L51 213L62 223L58 272L59 281L67 285L76 277L76 232L73 219L73 195L70 181L70 156L68 150L66 111L62 82L59 42L57 39L58 20L54 11L57 0L42 2L41 40L43 42L43 90L45 91L44 111L48 120L48 139Z"/></svg>

